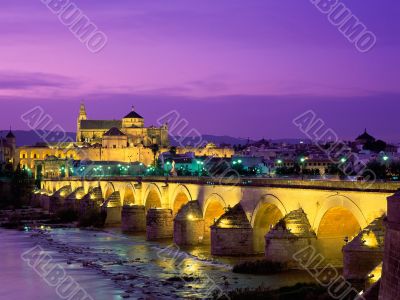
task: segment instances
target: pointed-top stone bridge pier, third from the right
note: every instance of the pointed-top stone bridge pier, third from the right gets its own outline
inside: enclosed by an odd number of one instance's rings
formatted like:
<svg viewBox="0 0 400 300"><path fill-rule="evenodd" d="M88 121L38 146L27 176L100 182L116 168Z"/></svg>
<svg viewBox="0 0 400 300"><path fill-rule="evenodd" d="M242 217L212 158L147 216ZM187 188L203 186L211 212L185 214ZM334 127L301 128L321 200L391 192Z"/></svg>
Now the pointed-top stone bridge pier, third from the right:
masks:
<svg viewBox="0 0 400 300"><path fill-rule="evenodd" d="M253 253L253 229L239 203L211 226L211 254L246 256Z"/></svg>

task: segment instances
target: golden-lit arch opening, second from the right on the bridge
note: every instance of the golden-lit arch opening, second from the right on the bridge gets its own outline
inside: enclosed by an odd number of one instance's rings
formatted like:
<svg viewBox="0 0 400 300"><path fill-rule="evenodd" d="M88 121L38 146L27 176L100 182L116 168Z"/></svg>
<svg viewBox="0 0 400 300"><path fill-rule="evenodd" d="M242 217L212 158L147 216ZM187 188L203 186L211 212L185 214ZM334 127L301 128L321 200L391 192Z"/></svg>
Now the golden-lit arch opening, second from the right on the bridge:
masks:
<svg viewBox="0 0 400 300"><path fill-rule="evenodd" d="M287 213L285 206L276 196L272 194L261 196L251 216L253 246L256 253L264 252L265 235Z"/></svg>

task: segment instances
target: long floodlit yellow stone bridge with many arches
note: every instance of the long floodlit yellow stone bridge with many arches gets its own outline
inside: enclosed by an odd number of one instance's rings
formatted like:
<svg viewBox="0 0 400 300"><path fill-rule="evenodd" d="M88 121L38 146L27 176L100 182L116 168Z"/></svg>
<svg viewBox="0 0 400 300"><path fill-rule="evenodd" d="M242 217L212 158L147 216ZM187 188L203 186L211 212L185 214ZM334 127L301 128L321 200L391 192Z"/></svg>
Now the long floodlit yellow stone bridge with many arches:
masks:
<svg viewBox="0 0 400 300"><path fill-rule="evenodd" d="M147 231L149 240L211 243L215 255L265 252L285 260L318 240L351 240L386 213L386 198L399 187L261 178L235 183L196 177L66 178L44 180L40 197L50 208L85 201L85 207L103 207L107 224Z"/></svg>

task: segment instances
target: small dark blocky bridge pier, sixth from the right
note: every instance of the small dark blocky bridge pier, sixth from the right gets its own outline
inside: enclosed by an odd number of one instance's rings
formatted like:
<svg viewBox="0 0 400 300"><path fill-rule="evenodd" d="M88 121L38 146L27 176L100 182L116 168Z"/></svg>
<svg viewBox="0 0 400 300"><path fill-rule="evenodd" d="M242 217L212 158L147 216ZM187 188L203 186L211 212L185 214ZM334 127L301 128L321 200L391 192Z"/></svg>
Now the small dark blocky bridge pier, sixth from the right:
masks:
<svg viewBox="0 0 400 300"><path fill-rule="evenodd" d="M121 223L122 230L126 232L146 231L146 208L144 205L124 205Z"/></svg>

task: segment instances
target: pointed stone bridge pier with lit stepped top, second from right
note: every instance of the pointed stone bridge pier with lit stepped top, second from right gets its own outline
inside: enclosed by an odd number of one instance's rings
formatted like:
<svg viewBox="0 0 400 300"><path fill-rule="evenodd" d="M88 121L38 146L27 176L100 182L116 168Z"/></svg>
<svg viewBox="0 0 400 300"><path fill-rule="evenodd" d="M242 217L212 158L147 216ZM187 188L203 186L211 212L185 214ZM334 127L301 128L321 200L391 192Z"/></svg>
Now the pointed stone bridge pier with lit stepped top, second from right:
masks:
<svg viewBox="0 0 400 300"><path fill-rule="evenodd" d="M288 268L299 268L294 256L317 239L302 209L288 213L265 236L265 257Z"/></svg>

